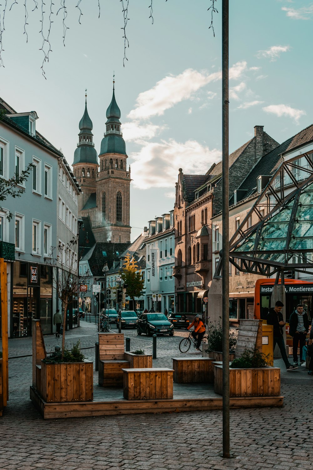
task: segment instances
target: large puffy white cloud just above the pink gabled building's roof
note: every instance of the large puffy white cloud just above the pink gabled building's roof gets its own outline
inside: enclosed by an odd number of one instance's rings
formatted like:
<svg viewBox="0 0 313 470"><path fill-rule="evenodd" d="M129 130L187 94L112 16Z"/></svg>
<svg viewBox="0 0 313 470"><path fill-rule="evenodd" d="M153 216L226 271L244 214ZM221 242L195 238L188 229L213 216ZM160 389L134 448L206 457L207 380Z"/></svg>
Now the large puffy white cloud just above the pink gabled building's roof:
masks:
<svg viewBox="0 0 313 470"><path fill-rule="evenodd" d="M170 140L147 143L130 157L134 160L131 178L136 188L175 188L178 168L184 173L203 174L221 159L221 151L210 150L197 141Z"/></svg>

